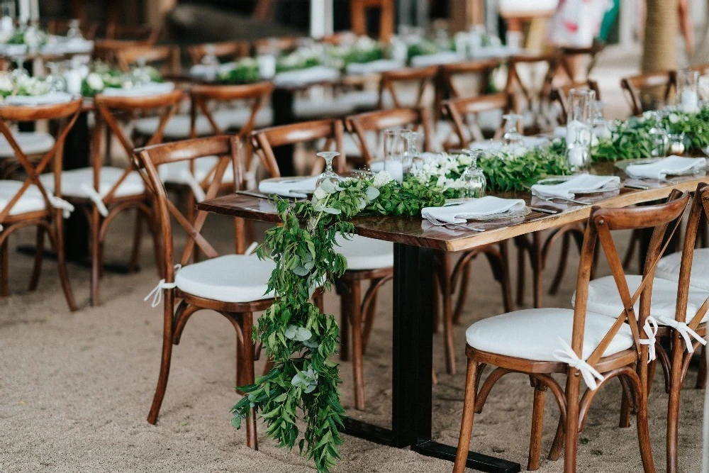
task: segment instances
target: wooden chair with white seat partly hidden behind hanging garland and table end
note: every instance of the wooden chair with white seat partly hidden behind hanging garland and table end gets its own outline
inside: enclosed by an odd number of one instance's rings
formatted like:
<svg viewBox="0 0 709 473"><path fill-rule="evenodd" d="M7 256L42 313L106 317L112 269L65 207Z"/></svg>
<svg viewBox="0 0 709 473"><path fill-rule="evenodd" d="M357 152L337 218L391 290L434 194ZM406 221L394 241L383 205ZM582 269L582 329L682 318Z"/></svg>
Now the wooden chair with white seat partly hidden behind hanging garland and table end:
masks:
<svg viewBox="0 0 709 473"><path fill-rule="evenodd" d="M281 175L273 148L313 140L328 140L342 153L342 121L322 120L294 125L276 126L252 133L254 152L261 157L271 177ZM328 149L325 143L323 149ZM335 158L334 169L345 172L345 156ZM323 160L318 159L312 175L322 172ZM352 331L352 376L354 378L354 406L364 409L364 368L362 357L367 347L376 309L379 289L393 277L393 245L389 242L354 235L351 240L339 238L337 252L347 257L347 271L335 282L340 295L340 359L350 359L350 325ZM369 281L369 289L362 296L362 282Z"/></svg>

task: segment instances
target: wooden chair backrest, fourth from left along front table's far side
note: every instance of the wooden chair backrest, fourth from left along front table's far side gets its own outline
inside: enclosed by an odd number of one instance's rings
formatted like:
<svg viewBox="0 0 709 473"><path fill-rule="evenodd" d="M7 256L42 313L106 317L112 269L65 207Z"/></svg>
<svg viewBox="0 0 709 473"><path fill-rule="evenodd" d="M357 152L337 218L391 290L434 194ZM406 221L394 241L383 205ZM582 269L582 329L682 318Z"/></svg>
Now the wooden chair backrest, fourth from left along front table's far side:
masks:
<svg viewBox="0 0 709 473"><path fill-rule="evenodd" d="M460 147L469 145L471 141L485 139L476 118L481 112L494 110L500 110L503 114L515 113L517 111L515 96L507 92L499 92L498 94L481 95L471 99L446 100L443 101L442 105L443 114L451 121L452 128L458 137L458 146ZM505 123L503 122L495 130L493 138L502 137L505 130Z"/></svg>

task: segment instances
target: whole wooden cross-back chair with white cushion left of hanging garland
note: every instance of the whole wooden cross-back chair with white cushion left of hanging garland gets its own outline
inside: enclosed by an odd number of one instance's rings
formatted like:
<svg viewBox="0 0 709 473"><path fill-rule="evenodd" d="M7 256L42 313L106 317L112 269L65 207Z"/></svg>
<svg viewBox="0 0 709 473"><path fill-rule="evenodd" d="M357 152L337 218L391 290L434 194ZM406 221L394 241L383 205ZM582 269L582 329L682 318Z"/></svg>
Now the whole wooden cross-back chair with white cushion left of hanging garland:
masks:
<svg viewBox="0 0 709 473"><path fill-rule="evenodd" d="M163 165L189 162L206 156L217 156L218 165L212 174L207 198L219 191L227 167L235 170L233 182L240 182L238 155L240 140L234 135L197 138L163 145L153 145L135 150L133 162L150 193L155 197L156 219L162 233L162 273L154 292L153 307L160 304L164 293L163 336L160 376L155 396L152 399L147 421L157 423L160 406L167 389L172 345L179 344L188 319L197 311L210 309L227 318L236 330L236 385L254 383L254 362L259 358L260 345L254 343L254 313L266 310L273 303L267 295L267 282L275 265L261 261L256 255L224 255L208 243L201 233L207 212L198 211L194 219L187 218L168 199L158 169ZM174 232L171 218L186 233L186 244L179 257L179 266L174 264ZM237 241L241 235L237 234ZM208 260L188 264L194 252L206 255ZM146 298L147 299L147 298ZM243 393L242 393L243 394ZM246 444L257 449L256 413L251 411L246 419Z"/></svg>

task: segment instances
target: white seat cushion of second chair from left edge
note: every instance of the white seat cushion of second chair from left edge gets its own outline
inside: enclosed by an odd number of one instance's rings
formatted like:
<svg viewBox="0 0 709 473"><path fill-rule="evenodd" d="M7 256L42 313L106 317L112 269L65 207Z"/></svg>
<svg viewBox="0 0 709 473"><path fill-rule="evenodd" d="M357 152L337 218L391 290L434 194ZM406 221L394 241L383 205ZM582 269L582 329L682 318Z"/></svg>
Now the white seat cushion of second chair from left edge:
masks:
<svg viewBox="0 0 709 473"><path fill-rule="evenodd" d="M101 167L101 182L99 183L99 195L106 196L118 179L121 178L125 169L120 167ZM52 174L42 174L40 181L44 184L48 192L54 192L54 176ZM82 186L82 184L85 184ZM77 199L90 199L91 195L86 192L86 187L94 187L94 170L91 167L82 167L62 172L62 196L74 197ZM140 195L145 192L143 179L138 172L131 172L128 177L116 189L114 197L125 197Z"/></svg>

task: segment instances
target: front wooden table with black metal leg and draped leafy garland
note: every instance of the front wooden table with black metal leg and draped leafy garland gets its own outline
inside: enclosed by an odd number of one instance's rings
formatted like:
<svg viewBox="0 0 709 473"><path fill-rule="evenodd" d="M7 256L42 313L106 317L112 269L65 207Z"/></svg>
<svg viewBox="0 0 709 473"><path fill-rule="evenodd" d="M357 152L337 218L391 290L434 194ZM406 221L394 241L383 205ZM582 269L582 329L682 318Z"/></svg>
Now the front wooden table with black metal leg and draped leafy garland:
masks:
<svg viewBox="0 0 709 473"><path fill-rule="evenodd" d="M594 165L593 172L623 174L610 163ZM654 184L656 187L647 190L624 188L620 192L596 196L598 200L594 205L623 207L664 199L671 189L691 191L706 179L704 175L694 175L676 179L671 184ZM534 206L548 206L545 201L533 200L529 193L496 195L525 199L527 204L531 202ZM209 199L197 204L197 208L257 221L279 221L274 206L267 199L240 194ZM503 224L480 233L429 226L420 217L367 216L354 219L357 234L394 243L392 419L389 429L348 418L345 433L381 445L411 447L422 455L454 460L455 447L435 442L431 433L434 252L472 250L566 223L581 222L591 213L591 206L577 204L555 204L554 208L561 212L556 215L532 212L517 223ZM476 452L469 452L467 466L484 472L520 471L518 463Z"/></svg>

